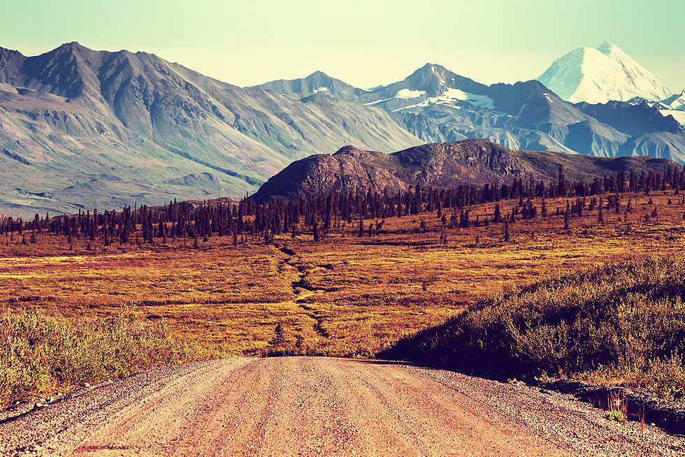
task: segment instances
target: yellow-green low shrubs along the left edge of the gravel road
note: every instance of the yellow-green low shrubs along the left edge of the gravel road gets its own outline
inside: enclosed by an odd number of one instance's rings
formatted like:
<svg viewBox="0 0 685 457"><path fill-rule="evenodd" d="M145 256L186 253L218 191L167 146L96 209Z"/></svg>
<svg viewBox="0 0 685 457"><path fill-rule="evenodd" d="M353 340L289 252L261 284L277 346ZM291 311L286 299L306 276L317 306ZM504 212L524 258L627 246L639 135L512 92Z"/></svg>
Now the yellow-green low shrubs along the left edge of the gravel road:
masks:
<svg viewBox="0 0 685 457"><path fill-rule="evenodd" d="M164 321L125 312L94 321L10 312L0 316L0 410L86 382L201 358L199 347L173 338Z"/></svg>

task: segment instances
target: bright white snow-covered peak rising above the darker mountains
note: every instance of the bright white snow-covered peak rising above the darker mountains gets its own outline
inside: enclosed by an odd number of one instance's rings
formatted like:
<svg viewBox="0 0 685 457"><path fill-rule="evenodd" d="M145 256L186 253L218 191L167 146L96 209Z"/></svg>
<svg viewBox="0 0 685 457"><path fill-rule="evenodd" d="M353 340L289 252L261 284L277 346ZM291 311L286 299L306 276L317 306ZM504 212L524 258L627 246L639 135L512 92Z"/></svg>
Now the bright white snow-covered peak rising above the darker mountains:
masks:
<svg viewBox="0 0 685 457"><path fill-rule="evenodd" d="M661 101L673 94L646 68L610 41L596 49L572 50L556 59L537 79L572 103L628 101L636 96Z"/></svg>

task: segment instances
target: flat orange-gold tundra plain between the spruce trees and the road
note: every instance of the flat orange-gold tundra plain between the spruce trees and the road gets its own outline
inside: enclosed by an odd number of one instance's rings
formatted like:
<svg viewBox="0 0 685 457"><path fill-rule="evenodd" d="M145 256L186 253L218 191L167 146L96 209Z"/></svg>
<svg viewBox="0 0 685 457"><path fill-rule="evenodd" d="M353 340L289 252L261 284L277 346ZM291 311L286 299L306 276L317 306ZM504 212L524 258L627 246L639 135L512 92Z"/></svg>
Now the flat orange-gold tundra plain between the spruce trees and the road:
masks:
<svg viewBox="0 0 685 457"><path fill-rule="evenodd" d="M618 211L603 208L601 217L588 197L568 229L566 198L548 198L547 217L540 198L532 203L537 216L510 224L486 224L495 203L484 203L468 207L468 228L424 212L384 219L380 231L366 230L379 222L366 220L363 237L359 220L336 222L318 242L308 231L266 242L212 235L108 245L6 233L0 310L81 324L123 312L163 322L171 337L201 348L196 357L373 358L493 294L610 261L678 254L685 240L685 204L672 191L632 194L630 211L623 196ZM499 204L511 215L519 201Z"/></svg>

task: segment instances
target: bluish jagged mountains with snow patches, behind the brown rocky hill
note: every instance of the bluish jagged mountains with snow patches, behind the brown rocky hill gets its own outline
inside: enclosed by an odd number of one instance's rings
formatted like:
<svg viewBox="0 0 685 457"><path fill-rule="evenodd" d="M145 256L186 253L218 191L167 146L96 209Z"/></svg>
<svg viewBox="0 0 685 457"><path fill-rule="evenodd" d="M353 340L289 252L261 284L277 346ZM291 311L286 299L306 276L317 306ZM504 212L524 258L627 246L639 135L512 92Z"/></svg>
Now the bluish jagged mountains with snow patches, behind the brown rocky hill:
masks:
<svg viewBox="0 0 685 457"><path fill-rule="evenodd" d="M315 73L260 87L282 90L293 98L317 92L349 100L353 94L355 103L383 108L425 143L487 138L511 150L650 155L685 163L685 129L675 117L663 115L665 107L659 102L633 97L570 103L537 80L487 86L436 64L372 91L354 90L332 78L325 87L317 87L317 81L325 79ZM305 92L298 92L305 87ZM598 119L593 113L600 112Z"/></svg>

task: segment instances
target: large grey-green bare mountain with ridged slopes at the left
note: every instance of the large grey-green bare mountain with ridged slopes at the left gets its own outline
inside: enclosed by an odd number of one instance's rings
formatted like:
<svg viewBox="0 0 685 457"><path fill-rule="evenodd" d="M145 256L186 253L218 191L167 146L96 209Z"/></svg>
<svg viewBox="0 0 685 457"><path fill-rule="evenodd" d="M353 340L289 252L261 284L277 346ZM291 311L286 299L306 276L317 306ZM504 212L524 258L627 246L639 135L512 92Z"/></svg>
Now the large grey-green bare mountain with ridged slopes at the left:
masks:
<svg viewBox="0 0 685 457"><path fill-rule="evenodd" d="M240 197L294 159L347 143L391 151L421 141L384 110L241 89L145 52L0 48L8 215Z"/></svg>

